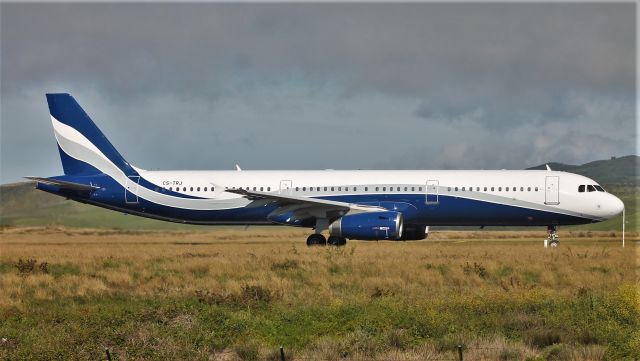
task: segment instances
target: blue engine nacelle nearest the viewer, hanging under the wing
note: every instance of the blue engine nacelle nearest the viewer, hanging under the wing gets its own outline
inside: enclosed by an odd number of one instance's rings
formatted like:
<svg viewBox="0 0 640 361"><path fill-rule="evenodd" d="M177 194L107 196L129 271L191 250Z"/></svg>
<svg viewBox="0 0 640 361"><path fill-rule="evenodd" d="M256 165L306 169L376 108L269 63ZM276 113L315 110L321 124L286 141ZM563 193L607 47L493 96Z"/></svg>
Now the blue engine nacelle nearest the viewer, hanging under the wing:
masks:
<svg viewBox="0 0 640 361"><path fill-rule="evenodd" d="M329 225L329 233L349 239L400 239L402 228L402 213L371 212L343 216Z"/></svg>

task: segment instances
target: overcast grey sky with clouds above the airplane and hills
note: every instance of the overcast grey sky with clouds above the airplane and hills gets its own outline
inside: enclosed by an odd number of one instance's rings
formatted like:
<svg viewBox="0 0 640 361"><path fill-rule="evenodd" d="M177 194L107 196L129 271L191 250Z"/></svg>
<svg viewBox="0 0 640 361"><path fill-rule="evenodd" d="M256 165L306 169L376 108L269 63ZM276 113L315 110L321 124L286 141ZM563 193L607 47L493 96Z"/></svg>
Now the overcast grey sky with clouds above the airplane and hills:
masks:
<svg viewBox="0 0 640 361"><path fill-rule="evenodd" d="M145 169L521 169L636 154L635 4L7 4L2 183L68 92Z"/></svg>

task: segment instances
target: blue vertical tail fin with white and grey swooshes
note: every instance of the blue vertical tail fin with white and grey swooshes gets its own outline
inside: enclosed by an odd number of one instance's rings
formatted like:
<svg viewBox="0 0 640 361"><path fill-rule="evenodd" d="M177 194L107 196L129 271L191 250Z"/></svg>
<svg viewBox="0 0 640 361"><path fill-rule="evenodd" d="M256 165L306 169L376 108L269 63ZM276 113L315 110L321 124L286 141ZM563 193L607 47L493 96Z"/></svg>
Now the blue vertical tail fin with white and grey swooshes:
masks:
<svg viewBox="0 0 640 361"><path fill-rule="evenodd" d="M47 94L47 103L66 175L111 173L114 166L137 174L71 95Z"/></svg>

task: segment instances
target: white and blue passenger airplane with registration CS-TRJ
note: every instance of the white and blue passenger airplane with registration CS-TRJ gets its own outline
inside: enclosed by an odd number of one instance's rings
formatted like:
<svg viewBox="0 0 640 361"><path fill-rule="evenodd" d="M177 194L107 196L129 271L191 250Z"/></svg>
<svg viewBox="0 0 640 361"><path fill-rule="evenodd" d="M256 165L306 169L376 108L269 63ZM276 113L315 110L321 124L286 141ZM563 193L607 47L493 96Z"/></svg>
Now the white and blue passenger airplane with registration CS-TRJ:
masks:
<svg viewBox="0 0 640 361"><path fill-rule="evenodd" d="M64 175L25 177L81 203L200 225L313 229L309 246L421 240L429 226L600 222L624 204L587 177L547 170L150 171L127 162L69 94L46 94ZM326 238L323 232L327 232Z"/></svg>

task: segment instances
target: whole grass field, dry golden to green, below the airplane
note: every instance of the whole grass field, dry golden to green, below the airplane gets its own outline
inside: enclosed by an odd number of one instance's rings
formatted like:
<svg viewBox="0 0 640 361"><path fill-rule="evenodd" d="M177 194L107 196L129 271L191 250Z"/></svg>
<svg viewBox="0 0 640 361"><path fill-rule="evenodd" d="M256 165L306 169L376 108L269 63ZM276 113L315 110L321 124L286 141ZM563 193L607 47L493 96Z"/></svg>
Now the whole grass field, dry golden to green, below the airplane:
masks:
<svg viewBox="0 0 640 361"><path fill-rule="evenodd" d="M543 233L5 228L0 358L637 360L638 233Z"/></svg>

